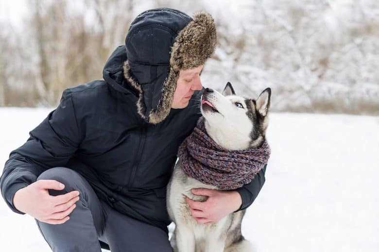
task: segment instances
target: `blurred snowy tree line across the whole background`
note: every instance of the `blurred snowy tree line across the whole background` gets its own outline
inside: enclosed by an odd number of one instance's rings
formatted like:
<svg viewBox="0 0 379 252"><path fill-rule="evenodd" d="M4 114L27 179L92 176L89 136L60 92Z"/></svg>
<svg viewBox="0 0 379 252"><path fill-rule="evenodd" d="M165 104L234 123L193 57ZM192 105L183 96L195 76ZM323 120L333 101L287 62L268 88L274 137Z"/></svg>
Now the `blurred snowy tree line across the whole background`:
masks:
<svg viewBox="0 0 379 252"><path fill-rule="evenodd" d="M212 14L218 45L203 84L273 111L379 115L379 4L374 0L29 0L23 29L0 23L0 106L56 106L62 91L102 79L130 22L149 8Z"/></svg>

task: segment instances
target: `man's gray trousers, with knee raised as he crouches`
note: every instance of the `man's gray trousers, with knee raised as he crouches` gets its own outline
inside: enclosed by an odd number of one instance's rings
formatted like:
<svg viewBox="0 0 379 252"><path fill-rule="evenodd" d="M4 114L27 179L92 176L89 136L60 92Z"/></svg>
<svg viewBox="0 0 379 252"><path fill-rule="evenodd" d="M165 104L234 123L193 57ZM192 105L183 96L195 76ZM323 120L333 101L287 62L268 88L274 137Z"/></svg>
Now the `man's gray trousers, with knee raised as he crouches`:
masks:
<svg viewBox="0 0 379 252"><path fill-rule="evenodd" d="M65 185L60 195L73 190L80 200L63 224L52 225L36 220L41 234L54 252L100 252L99 240L107 243L111 252L171 252L166 232L155 226L127 217L97 197L86 179L69 168L51 168L37 180L56 180Z"/></svg>

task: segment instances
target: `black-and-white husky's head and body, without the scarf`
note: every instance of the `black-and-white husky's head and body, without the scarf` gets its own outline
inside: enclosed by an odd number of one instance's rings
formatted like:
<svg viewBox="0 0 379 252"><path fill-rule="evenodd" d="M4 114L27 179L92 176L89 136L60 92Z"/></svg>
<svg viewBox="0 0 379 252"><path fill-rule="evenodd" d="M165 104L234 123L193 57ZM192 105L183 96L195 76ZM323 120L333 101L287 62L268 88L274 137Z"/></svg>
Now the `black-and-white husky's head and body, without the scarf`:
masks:
<svg viewBox="0 0 379 252"><path fill-rule="evenodd" d="M228 82L223 93L207 88L201 98L201 114L209 137L227 150L258 148L265 141L271 89L257 100L236 96ZM204 202L206 196L191 193L193 188L219 189L189 177L175 165L167 189L167 209L175 230L171 238L174 252L252 252L253 245L241 235L245 210L237 211L217 223L199 224L191 216L186 197Z"/></svg>

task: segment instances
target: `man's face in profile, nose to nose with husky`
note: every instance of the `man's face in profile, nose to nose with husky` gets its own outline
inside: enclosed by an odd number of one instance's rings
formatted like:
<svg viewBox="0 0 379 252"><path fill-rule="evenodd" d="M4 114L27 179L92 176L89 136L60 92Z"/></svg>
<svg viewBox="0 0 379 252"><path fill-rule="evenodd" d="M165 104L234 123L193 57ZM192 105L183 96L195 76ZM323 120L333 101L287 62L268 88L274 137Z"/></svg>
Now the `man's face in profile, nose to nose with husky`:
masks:
<svg viewBox="0 0 379 252"><path fill-rule="evenodd" d="M195 90L201 90L203 85L200 81L200 72L203 65L179 71L179 78L176 82L176 89L172 101L172 108L185 108Z"/></svg>

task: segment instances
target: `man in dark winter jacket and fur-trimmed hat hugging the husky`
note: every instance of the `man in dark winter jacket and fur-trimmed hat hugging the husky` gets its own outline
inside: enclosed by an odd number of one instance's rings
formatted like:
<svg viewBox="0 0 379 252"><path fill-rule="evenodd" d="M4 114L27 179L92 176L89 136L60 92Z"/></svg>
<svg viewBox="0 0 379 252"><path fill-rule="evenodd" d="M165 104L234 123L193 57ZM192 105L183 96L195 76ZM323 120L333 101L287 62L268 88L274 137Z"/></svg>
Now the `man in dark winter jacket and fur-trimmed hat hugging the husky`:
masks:
<svg viewBox="0 0 379 252"><path fill-rule="evenodd" d="M53 251L171 251L166 186L179 144L195 127L200 73L216 45L213 18L141 13L104 80L69 88L10 154L0 180L9 207L36 219ZM198 189L215 222L249 206L264 170L237 191ZM192 202L189 202L191 206Z"/></svg>

